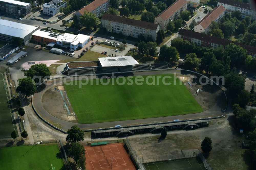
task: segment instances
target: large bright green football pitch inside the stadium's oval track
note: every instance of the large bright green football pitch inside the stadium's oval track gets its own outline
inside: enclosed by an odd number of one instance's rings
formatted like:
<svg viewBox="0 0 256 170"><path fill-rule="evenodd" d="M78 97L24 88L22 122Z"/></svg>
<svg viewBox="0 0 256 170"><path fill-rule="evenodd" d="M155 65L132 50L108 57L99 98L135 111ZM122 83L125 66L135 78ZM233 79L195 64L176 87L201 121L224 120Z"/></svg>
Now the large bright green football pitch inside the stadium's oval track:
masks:
<svg viewBox="0 0 256 170"><path fill-rule="evenodd" d="M113 78L113 80L102 80L104 83L110 81L108 85L103 85L99 80L93 79L87 80L88 84L81 88L79 88L81 83L74 81L68 82L73 85L64 83L64 86L79 123L111 122L202 112L202 108L189 90L183 84L179 85L178 78L164 79L164 82L172 83L171 85L163 83L164 76L173 77L173 74L154 76L162 76L159 79L159 85L148 85L145 81L142 85L129 84L131 81L135 82L136 76L133 76L132 78L125 77L124 85L118 85L116 83L118 78ZM147 76L142 77L146 80ZM119 82L123 82L124 79L120 78ZM99 81L98 85L96 81ZM81 82L85 84L86 80L81 80ZM153 82L153 80L148 79L148 82ZM155 84L157 84L157 78L155 78Z"/></svg>

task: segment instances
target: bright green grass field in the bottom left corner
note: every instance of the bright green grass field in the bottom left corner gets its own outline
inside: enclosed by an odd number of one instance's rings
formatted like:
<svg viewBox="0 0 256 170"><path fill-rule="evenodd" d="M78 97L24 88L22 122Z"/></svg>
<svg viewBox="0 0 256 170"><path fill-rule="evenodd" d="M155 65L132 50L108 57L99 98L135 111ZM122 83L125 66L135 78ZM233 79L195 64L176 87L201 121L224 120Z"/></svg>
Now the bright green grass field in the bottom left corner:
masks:
<svg viewBox="0 0 256 170"><path fill-rule="evenodd" d="M37 144L0 149L0 169L51 170L64 166L57 144ZM65 168L64 168L65 169Z"/></svg>

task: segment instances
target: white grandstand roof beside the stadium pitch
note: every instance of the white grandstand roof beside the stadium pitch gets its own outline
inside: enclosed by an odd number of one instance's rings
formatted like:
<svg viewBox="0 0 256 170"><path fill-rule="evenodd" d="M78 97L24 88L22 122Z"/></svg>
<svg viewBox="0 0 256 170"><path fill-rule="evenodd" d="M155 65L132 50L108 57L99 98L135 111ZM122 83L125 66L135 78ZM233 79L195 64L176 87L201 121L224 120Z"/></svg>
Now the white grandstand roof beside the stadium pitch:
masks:
<svg viewBox="0 0 256 170"><path fill-rule="evenodd" d="M101 57L99 58L102 67L129 66L139 64L132 56Z"/></svg>

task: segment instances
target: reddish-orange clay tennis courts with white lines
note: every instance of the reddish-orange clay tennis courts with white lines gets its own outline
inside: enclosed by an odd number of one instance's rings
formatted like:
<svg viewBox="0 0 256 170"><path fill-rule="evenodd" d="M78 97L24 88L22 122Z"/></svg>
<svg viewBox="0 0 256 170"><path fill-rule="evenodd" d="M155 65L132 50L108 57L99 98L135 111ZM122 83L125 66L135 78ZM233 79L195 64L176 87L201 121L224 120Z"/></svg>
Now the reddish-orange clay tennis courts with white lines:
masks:
<svg viewBox="0 0 256 170"><path fill-rule="evenodd" d="M136 170L123 143L85 146L86 169Z"/></svg>

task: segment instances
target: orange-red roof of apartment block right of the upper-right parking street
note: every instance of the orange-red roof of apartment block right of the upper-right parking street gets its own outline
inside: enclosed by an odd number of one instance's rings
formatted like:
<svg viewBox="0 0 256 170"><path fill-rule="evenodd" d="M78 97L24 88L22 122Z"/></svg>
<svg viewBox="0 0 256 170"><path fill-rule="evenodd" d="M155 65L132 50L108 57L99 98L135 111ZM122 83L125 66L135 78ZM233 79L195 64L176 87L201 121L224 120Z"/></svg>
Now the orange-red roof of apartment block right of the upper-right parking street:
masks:
<svg viewBox="0 0 256 170"><path fill-rule="evenodd" d="M225 8L220 5L216 8L214 8L208 15L206 15L200 22L196 24L201 25L204 29L209 27L212 21L215 21L223 12L225 12Z"/></svg>

